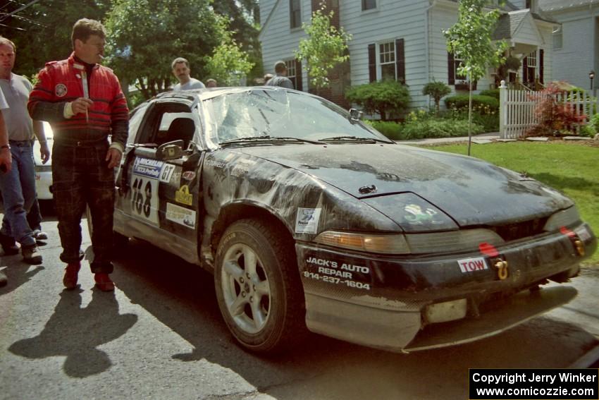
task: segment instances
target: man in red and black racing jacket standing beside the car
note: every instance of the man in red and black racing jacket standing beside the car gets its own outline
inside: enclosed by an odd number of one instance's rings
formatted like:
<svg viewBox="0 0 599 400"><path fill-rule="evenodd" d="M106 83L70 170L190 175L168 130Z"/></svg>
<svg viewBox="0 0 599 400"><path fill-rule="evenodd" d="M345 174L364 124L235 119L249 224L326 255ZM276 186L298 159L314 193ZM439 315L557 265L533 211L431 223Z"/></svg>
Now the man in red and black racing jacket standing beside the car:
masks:
<svg viewBox="0 0 599 400"><path fill-rule="evenodd" d="M91 267L96 286L114 290L109 277L113 270L113 168L121 162L129 110L118 78L110 68L99 65L105 39L101 23L78 20L71 35L73 54L46 64L27 104L32 119L49 121L54 130L52 188L63 246L61 260L67 263L66 289L77 287L80 223L87 204L93 221Z"/></svg>

